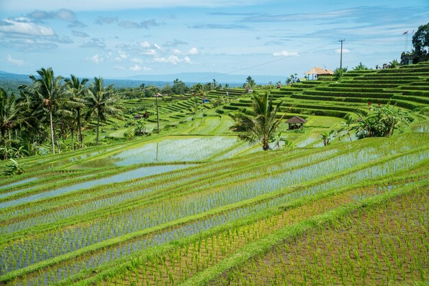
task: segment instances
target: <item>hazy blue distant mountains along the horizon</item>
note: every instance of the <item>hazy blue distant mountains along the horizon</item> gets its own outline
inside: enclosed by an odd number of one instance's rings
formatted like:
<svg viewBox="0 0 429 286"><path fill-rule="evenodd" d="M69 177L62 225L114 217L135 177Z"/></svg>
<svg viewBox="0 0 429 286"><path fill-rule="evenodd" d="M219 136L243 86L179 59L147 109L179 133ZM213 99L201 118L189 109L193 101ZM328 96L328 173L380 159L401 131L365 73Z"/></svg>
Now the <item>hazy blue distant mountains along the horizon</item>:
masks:
<svg viewBox="0 0 429 286"><path fill-rule="evenodd" d="M8 73L7 71L0 71L0 86L8 87L16 91L20 84L29 84L31 80L29 75L21 75L17 73ZM230 86L241 86L249 75L225 75L223 73L174 73L169 75L133 75L127 78L105 78L106 84L114 84L116 88L136 87L140 84L151 84L154 86L162 87L167 84L173 84L175 79L179 79L192 86L197 82L206 83L212 82L215 79L219 84L229 84ZM284 82L286 76L284 75L250 75L256 81L256 84L268 84L269 82Z"/></svg>

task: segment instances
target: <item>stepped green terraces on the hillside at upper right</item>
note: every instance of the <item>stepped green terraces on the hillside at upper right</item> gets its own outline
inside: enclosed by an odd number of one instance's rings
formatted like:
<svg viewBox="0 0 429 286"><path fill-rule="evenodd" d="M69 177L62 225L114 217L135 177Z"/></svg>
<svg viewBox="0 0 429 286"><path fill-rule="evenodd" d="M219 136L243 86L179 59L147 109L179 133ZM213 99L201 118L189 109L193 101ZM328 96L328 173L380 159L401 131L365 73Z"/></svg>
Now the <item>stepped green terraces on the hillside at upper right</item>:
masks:
<svg viewBox="0 0 429 286"><path fill-rule="evenodd" d="M283 99L289 115L349 117L354 110L366 113L371 104L395 104L406 110L422 110L429 104L429 64L424 62L400 69L349 71L341 80L323 77L271 91ZM249 108L249 99L225 106L227 110ZM426 117L427 118L427 117Z"/></svg>

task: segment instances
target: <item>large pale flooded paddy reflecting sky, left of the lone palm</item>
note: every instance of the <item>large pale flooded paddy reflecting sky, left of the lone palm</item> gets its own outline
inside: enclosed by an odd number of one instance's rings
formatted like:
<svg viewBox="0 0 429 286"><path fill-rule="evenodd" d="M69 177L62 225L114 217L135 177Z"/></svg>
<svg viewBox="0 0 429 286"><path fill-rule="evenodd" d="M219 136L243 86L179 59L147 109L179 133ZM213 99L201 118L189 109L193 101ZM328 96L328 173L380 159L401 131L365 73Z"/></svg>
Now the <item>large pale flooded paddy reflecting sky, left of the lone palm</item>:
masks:
<svg viewBox="0 0 429 286"><path fill-rule="evenodd" d="M228 136L168 137L159 142L145 143L105 158L92 160L85 165L88 167L127 166L141 163L207 160L236 143L235 137Z"/></svg>

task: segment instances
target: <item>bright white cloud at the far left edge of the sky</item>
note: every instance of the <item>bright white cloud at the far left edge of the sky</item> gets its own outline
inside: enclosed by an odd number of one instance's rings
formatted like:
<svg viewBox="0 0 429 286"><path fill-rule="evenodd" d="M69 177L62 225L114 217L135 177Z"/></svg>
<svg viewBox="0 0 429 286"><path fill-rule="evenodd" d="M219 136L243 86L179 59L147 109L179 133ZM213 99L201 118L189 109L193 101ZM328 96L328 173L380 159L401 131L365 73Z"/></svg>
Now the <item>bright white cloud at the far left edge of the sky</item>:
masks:
<svg viewBox="0 0 429 286"><path fill-rule="evenodd" d="M29 36L55 36L51 27L37 25L26 18L4 19L3 23L0 21L0 32Z"/></svg>

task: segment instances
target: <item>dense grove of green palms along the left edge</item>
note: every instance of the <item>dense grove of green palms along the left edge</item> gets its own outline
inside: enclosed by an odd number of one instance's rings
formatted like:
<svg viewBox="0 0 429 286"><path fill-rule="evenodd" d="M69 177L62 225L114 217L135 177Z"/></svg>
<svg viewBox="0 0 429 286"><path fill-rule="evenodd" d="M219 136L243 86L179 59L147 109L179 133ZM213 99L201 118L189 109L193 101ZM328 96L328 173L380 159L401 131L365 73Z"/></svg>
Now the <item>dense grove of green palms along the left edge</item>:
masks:
<svg viewBox="0 0 429 286"><path fill-rule="evenodd" d="M29 76L31 84L19 86L18 96L0 88L1 159L38 154L47 142L53 154L60 153L68 134L72 150L83 147L82 128L93 119L98 145L100 123L121 117L114 88L105 86L103 78L62 78L50 67L36 73Z"/></svg>

